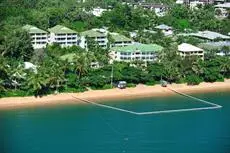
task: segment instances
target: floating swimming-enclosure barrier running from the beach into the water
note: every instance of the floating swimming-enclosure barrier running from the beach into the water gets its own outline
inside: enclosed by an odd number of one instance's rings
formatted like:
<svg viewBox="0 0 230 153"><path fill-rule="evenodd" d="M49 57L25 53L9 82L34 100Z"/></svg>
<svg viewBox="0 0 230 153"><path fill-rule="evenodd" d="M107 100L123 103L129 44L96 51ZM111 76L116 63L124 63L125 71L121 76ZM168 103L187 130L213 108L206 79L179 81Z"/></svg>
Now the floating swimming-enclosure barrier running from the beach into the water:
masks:
<svg viewBox="0 0 230 153"><path fill-rule="evenodd" d="M184 94L182 92L176 91L175 89L171 89L171 88L168 88L168 89L170 91L173 91L173 92L179 94L179 95L182 95L182 96L185 96L185 97L200 101L202 103L209 104L211 106L210 107L200 107L200 108L185 108L185 109L173 109L173 110L162 110L162 111L135 112L135 111L130 111L130 110L114 107L114 106L109 106L109 105L105 105L105 104L96 103L96 102L89 101L89 100L82 99L82 98L78 98L78 97L75 97L75 96L72 96L72 97L77 99L77 100L80 100L80 101L83 101L85 103L89 103L89 104L92 104L92 105L95 105L95 106L98 106L98 107L104 107L104 108L108 108L108 109L112 109L112 110L116 110L116 111L120 111L120 112L133 114L133 115L151 115L151 114L163 114L163 113L190 112L190 111L211 110L211 109L222 108L222 106L220 106L218 104L214 104L214 103L211 103L209 101L202 100L202 99L199 99L199 98Z"/></svg>

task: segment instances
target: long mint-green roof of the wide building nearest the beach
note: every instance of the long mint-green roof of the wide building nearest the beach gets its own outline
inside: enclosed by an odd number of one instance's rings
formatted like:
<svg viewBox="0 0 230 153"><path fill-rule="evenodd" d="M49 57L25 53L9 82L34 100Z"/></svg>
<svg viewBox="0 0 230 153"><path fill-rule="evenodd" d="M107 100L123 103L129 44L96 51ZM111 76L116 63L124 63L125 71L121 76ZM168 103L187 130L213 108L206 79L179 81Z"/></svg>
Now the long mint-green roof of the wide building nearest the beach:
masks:
<svg viewBox="0 0 230 153"><path fill-rule="evenodd" d="M112 51L117 51L117 52L134 52L136 50L140 52L152 52L152 51L159 52L162 49L163 47L156 44L133 44L125 47L111 48Z"/></svg>

